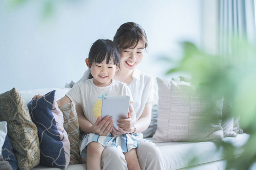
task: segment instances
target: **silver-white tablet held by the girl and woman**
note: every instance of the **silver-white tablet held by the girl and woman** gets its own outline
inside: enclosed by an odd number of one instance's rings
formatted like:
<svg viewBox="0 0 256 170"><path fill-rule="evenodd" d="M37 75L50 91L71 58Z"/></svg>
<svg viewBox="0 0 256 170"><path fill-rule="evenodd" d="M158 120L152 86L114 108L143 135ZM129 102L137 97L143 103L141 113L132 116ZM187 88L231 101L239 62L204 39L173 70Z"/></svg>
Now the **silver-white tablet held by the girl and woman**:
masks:
<svg viewBox="0 0 256 170"><path fill-rule="evenodd" d="M117 120L128 117L130 96L106 96L102 99L101 120L106 116L113 117L114 128L118 130ZM121 123L120 123L121 124Z"/></svg>

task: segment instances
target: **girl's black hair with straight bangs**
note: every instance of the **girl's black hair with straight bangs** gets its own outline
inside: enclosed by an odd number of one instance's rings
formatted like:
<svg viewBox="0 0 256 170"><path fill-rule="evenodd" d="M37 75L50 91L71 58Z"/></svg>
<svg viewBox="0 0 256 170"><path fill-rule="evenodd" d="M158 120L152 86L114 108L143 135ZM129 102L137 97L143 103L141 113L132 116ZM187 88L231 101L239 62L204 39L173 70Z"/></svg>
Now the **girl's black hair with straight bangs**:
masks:
<svg viewBox="0 0 256 170"><path fill-rule="evenodd" d="M107 59L107 64L113 60L114 64L119 67L121 64L121 57L119 48L111 40L99 39L92 44L90 49L88 59L89 59L89 69L92 67L92 63L101 63ZM89 79L93 78L90 73Z"/></svg>

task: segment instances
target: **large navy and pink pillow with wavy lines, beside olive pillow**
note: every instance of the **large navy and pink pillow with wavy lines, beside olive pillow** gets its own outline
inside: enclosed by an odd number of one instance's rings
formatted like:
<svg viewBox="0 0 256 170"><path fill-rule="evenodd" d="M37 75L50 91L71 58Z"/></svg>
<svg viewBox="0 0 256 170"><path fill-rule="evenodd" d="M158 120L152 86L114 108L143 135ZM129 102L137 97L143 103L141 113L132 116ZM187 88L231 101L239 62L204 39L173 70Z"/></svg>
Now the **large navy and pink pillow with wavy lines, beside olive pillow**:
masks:
<svg viewBox="0 0 256 170"><path fill-rule="evenodd" d="M70 144L63 127L63 115L55 99L55 90L31 100L27 106L38 130L40 164L65 169L70 160Z"/></svg>

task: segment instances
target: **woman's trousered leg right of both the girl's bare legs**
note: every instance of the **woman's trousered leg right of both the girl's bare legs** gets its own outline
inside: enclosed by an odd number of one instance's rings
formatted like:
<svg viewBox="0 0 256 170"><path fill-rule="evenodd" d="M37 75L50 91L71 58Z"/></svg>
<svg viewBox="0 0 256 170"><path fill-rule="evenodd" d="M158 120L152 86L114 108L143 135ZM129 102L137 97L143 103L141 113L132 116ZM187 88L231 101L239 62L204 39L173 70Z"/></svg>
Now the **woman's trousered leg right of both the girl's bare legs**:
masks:
<svg viewBox="0 0 256 170"><path fill-rule="evenodd" d="M140 168L164 170L164 161L159 147L152 142L143 142L136 148Z"/></svg>

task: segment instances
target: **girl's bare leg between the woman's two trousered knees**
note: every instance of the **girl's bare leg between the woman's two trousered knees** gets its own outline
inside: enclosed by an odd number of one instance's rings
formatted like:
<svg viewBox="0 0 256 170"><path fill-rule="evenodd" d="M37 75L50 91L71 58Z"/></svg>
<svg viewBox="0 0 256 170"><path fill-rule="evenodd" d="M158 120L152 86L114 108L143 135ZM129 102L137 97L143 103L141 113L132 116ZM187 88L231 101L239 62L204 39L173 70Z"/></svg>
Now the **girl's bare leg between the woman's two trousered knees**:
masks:
<svg viewBox="0 0 256 170"><path fill-rule="evenodd" d="M136 149L133 148L129 152L124 152L128 170L140 170L139 161L137 158Z"/></svg>

